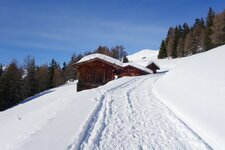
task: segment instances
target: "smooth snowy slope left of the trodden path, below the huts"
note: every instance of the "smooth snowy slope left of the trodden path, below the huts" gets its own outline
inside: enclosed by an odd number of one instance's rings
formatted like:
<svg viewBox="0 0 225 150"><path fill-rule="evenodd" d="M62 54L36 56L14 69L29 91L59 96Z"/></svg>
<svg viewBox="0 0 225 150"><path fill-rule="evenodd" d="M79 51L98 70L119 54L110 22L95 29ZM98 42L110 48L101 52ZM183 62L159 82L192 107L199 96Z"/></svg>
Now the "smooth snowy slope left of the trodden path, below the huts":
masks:
<svg viewBox="0 0 225 150"><path fill-rule="evenodd" d="M127 80L114 82L110 88ZM102 95L99 89L75 91L76 83L68 83L0 112L1 150L67 149L77 141Z"/></svg>

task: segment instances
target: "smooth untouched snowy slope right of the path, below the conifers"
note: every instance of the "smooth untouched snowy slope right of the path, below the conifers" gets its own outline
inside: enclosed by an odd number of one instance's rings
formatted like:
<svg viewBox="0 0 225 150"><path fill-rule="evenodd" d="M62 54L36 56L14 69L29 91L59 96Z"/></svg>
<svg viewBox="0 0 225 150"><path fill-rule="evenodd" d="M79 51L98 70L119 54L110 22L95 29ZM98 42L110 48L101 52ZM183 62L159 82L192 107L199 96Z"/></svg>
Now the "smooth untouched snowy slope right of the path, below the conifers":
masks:
<svg viewBox="0 0 225 150"><path fill-rule="evenodd" d="M216 149L225 148L225 46L182 59L154 93Z"/></svg>

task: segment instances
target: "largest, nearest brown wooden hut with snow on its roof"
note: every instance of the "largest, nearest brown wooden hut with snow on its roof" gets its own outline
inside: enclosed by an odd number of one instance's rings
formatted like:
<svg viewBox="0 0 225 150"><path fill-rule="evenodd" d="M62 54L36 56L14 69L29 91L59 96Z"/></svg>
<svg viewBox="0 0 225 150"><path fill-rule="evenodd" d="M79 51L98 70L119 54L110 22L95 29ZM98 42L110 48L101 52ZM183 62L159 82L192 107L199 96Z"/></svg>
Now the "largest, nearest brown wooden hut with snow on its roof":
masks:
<svg viewBox="0 0 225 150"><path fill-rule="evenodd" d="M74 64L77 70L77 91L95 88L114 79L123 68L122 62L102 54L91 54Z"/></svg>

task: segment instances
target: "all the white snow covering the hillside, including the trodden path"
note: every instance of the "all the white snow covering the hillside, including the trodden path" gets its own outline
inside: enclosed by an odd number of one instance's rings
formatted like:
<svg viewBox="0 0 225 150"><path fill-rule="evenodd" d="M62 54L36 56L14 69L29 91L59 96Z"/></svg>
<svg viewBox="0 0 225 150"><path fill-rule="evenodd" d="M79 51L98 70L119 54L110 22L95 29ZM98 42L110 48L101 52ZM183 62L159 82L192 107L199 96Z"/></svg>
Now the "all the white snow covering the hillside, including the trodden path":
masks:
<svg viewBox="0 0 225 150"><path fill-rule="evenodd" d="M44 91L0 112L0 149L223 149L224 56L225 46L182 59L138 54L169 72Z"/></svg>

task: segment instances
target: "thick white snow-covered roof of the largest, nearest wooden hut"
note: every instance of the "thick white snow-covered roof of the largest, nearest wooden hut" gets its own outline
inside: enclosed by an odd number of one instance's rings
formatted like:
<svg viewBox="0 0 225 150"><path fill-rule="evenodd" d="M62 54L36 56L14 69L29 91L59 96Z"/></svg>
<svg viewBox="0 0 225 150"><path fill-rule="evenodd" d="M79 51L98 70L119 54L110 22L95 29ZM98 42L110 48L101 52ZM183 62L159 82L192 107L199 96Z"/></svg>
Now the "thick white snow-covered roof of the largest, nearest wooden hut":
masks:
<svg viewBox="0 0 225 150"><path fill-rule="evenodd" d="M123 67L123 63L121 61L119 61L119 60L117 60L115 58L112 58L112 57L103 55L103 54L99 54L99 53L90 54L90 55L84 56L76 64L83 63L83 62L86 62L86 61L90 61L90 60L93 60L93 59L96 59L96 58L97 59L104 60L104 61L106 61L108 63L111 63L111 64L115 64L117 66Z"/></svg>

